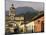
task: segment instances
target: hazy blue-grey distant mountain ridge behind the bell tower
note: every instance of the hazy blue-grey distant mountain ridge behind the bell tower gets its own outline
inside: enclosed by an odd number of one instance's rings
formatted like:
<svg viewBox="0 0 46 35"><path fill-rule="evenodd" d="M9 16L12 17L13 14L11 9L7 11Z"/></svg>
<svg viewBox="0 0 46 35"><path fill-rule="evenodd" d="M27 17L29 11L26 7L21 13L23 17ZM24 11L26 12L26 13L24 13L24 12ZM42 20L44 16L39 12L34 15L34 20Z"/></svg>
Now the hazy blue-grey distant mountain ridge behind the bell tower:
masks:
<svg viewBox="0 0 46 35"><path fill-rule="evenodd" d="M6 11L6 15L8 15L9 11ZM16 15L22 14L22 13L26 13L26 12L30 12L31 14L33 13L37 13L35 9L33 9L32 7L18 7L16 8Z"/></svg>

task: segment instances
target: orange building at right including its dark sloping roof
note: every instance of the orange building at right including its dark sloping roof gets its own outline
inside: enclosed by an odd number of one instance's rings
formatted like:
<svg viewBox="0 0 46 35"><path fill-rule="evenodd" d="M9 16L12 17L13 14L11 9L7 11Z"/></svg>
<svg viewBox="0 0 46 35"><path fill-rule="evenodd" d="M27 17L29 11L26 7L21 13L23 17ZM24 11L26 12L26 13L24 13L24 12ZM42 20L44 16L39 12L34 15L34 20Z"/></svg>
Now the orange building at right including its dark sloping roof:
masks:
<svg viewBox="0 0 46 35"><path fill-rule="evenodd" d="M34 18L34 32L44 32L44 13L40 13Z"/></svg>

